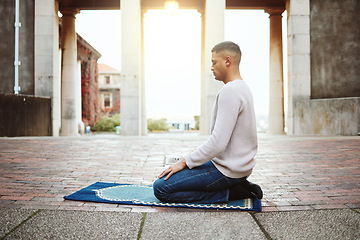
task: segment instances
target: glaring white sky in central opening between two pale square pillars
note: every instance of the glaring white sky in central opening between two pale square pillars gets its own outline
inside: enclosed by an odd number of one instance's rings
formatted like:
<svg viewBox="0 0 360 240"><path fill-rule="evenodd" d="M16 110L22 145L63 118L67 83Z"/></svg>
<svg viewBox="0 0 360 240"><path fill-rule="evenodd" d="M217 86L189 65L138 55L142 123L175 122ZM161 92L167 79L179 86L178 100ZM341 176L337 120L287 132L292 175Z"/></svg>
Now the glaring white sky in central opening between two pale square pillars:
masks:
<svg viewBox="0 0 360 240"><path fill-rule="evenodd" d="M144 32L147 117L191 121L200 114L200 14L149 10Z"/></svg>

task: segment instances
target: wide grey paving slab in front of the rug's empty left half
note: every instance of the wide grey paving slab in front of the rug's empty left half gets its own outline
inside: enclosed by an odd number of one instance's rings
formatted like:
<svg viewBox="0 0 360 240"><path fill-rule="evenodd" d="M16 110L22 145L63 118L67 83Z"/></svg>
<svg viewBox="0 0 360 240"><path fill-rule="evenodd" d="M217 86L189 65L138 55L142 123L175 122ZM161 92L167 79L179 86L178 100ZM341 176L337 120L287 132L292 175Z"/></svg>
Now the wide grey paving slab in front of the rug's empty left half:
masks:
<svg viewBox="0 0 360 240"><path fill-rule="evenodd" d="M43 210L7 239L136 239L141 213Z"/></svg>

